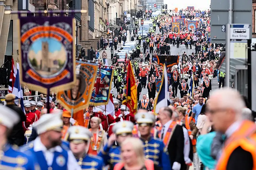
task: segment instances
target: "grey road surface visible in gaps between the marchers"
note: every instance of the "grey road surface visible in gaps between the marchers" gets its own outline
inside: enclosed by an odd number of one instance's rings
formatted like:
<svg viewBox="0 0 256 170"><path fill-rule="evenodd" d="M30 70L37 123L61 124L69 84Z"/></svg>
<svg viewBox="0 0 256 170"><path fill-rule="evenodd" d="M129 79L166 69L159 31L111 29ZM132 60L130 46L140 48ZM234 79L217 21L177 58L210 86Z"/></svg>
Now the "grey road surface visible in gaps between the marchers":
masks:
<svg viewBox="0 0 256 170"><path fill-rule="evenodd" d="M159 33L159 28L156 28L156 32ZM129 31L127 32L127 41L130 41L130 34L129 34ZM138 40L136 40L136 37L135 37L135 41L136 43L138 43ZM121 43L122 44L122 43ZM141 43L142 44L142 43ZM142 46L142 45L141 45ZM186 49L185 45L180 45L179 48L177 48L176 46L172 46L170 45L171 49L170 49L170 53L171 55L182 55L182 53L186 52L187 55L191 55L191 53L195 53L195 46L192 46L192 49ZM117 47L117 50L119 50L120 48ZM156 48L154 47L154 50ZM114 54L117 52L117 50L114 49ZM103 53L104 50L100 50L99 53L100 55ZM109 65L112 63L111 61L111 51L110 51L110 48L107 47L107 49L105 50L106 53L107 53L107 59L108 59L108 63ZM143 47L141 47L141 51L143 51ZM145 58L143 59L145 61ZM188 80L188 85L190 84L190 79ZM117 90L114 87L114 83L112 82L112 93L114 94L114 96L116 97L117 96ZM218 89L218 79L217 78L213 78L212 79L212 90L214 89ZM147 94L148 93L148 90L147 88L142 88L142 91L141 91L141 95L140 95L140 100L142 99L142 95L143 94ZM211 92L210 92L211 94ZM147 95L148 96L148 95ZM157 96L157 93L156 93L156 96ZM177 93L177 96L179 98L181 98L180 96L180 92L178 90L178 93ZM183 97L183 96L182 96Z"/></svg>

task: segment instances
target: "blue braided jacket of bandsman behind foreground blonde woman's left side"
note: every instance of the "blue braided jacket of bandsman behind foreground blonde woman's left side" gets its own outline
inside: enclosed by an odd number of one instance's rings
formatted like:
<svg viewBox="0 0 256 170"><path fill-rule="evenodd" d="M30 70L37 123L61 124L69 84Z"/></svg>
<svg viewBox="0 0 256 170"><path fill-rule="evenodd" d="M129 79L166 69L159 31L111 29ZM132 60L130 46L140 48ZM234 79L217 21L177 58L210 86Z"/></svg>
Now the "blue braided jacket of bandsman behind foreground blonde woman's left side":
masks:
<svg viewBox="0 0 256 170"><path fill-rule="evenodd" d="M103 158L105 165L109 164L110 167L114 167L115 164L121 162L121 147L119 146L106 146L101 150L98 154L101 158Z"/></svg>

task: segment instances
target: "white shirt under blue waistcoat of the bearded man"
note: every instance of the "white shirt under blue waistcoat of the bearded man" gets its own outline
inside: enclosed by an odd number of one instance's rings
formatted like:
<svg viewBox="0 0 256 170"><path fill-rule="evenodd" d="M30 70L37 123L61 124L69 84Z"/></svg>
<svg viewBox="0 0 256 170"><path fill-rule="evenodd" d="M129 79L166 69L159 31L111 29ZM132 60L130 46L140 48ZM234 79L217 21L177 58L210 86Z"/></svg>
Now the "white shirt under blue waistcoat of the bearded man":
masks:
<svg viewBox="0 0 256 170"><path fill-rule="evenodd" d="M37 137L34 140L34 151L35 152L42 151L43 155L45 157L45 160L47 162L47 165L52 166L54 152L55 151L62 152L62 148L61 148L61 146L56 146L56 147L53 147L53 148L47 150L47 148L41 142L40 137ZM67 162L68 170L82 170L81 167L78 165L73 153L70 150L68 151L68 160L67 161L68 161Z"/></svg>

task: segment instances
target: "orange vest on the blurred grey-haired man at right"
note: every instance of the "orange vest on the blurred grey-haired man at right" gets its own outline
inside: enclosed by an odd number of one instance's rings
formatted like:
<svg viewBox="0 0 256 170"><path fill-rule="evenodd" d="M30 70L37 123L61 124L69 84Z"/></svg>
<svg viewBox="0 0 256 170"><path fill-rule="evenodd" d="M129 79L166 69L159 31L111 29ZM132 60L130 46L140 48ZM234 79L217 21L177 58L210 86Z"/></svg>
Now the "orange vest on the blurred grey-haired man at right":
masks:
<svg viewBox="0 0 256 170"><path fill-rule="evenodd" d="M224 143L222 155L216 165L216 170L226 170L227 163L233 151L241 147L243 150L249 152L253 159L253 170L256 164L256 125L252 121L242 121L239 129L236 130Z"/></svg>

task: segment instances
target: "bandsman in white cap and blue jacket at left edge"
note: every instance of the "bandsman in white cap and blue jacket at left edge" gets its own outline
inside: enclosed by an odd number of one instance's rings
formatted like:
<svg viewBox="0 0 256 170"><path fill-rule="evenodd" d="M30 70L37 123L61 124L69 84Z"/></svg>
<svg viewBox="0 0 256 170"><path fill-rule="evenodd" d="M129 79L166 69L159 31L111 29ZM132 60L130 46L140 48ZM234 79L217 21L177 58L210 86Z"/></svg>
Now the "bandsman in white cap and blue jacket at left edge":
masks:
<svg viewBox="0 0 256 170"><path fill-rule="evenodd" d="M17 151L7 142L9 131L20 121L19 115L12 109L0 105L1 169L36 169L33 155Z"/></svg>

